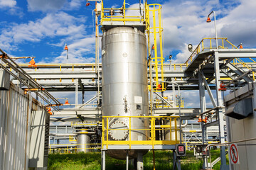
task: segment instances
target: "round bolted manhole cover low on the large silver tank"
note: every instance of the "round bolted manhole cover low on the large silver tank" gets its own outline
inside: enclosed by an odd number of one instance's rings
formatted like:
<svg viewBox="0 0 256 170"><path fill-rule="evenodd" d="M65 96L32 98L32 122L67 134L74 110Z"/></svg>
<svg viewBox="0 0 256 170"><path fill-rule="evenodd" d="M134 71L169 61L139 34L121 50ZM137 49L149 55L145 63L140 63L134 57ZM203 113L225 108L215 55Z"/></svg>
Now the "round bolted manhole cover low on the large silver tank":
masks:
<svg viewBox="0 0 256 170"><path fill-rule="evenodd" d="M113 140L125 140L129 134L127 125L120 120L114 121L110 125L109 135Z"/></svg>

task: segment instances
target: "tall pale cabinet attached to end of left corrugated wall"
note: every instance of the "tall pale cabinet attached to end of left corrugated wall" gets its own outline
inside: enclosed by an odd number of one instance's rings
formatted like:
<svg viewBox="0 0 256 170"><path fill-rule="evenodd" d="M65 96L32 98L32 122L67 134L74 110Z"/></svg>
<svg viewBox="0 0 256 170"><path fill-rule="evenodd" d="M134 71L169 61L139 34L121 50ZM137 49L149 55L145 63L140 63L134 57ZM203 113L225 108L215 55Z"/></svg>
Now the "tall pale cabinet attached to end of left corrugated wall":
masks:
<svg viewBox="0 0 256 170"><path fill-rule="evenodd" d="M47 169L49 125L50 115L46 111L32 111L29 168Z"/></svg>

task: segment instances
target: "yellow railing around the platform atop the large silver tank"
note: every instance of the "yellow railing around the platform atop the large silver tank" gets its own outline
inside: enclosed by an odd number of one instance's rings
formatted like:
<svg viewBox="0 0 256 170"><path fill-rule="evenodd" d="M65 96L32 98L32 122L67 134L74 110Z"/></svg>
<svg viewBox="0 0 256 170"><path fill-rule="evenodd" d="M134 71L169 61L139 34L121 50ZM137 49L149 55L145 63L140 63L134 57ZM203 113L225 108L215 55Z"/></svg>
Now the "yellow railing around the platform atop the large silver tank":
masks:
<svg viewBox="0 0 256 170"><path fill-rule="evenodd" d="M124 25L126 22L144 22L144 7L126 8L125 0L121 8L105 8L103 0L101 5L101 24L104 21L121 21ZM129 16L127 15L127 11L137 11L139 16Z"/></svg>

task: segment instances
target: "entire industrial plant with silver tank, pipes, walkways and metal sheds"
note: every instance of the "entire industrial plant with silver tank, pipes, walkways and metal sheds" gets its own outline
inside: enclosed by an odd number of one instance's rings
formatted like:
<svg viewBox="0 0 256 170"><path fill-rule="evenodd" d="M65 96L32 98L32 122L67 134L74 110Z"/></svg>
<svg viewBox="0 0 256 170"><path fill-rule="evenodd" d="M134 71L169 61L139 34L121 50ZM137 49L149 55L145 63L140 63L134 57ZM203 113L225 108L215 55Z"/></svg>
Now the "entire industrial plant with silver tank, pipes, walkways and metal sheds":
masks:
<svg viewBox="0 0 256 170"><path fill-rule="evenodd" d="M171 55L167 61L164 6L137 3L87 1L93 63L70 62L67 44L67 62L58 64L11 57L0 47L0 169L43 170L48 154L79 152L100 152L102 170L107 156L142 170L152 152L156 169L159 150L172 152L173 169L181 169L188 150L203 160L201 169L218 162L221 170L255 169L256 49L233 45L215 28L215 37L188 45L186 62L173 63ZM215 20L215 11L206 13L207 22ZM198 91L200 108L187 107L182 91ZM75 100L57 97L66 92ZM217 159L213 148L220 149Z"/></svg>

